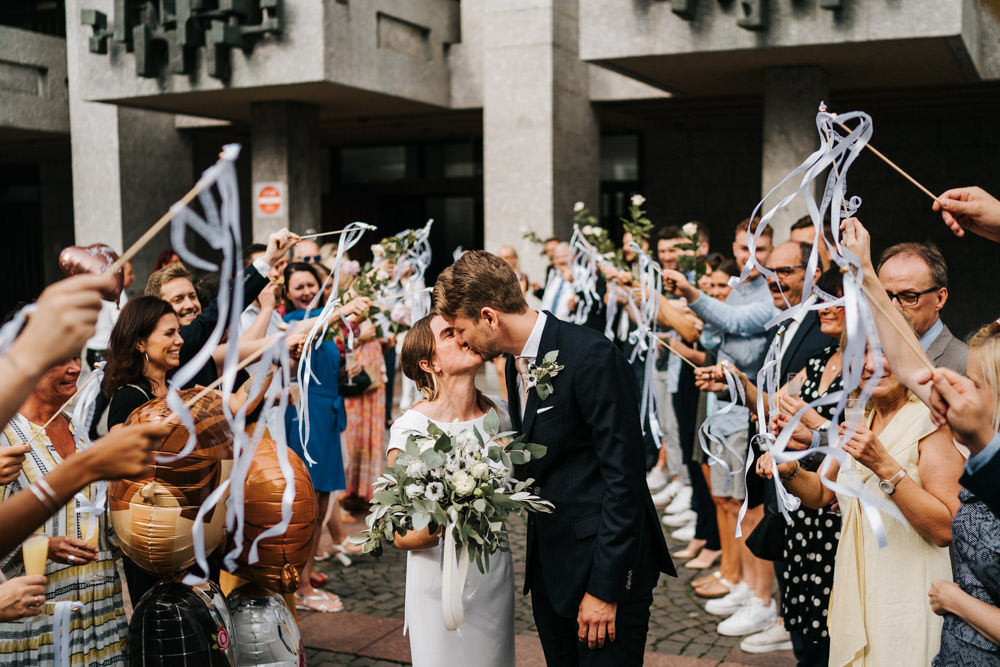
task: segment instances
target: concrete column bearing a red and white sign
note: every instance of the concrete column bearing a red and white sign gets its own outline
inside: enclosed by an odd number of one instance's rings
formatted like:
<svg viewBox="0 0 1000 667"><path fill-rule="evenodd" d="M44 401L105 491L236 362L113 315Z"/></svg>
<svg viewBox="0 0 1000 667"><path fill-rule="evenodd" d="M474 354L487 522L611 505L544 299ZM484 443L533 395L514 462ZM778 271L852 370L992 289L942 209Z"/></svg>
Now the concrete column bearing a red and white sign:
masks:
<svg viewBox="0 0 1000 667"><path fill-rule="evenodd" d="M258 102L250 107L250 126L252 182L284 186L281 208L274 217L260 215L251 192L254 239L266 239L282 227L299 234L310 228L318 231L323 194L318 108L298 102Z"/></svg>

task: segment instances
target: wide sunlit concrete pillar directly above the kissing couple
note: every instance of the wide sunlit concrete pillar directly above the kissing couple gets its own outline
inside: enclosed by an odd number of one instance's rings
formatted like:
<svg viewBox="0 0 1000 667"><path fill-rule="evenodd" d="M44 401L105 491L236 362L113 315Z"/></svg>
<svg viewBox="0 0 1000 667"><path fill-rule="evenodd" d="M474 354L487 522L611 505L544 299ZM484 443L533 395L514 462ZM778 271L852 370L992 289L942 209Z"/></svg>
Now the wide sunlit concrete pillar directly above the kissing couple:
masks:
<svg viewBox="0 0 1000 667"><path fill-rule="evenodd" d="M532 277L522 229L569 240L573 202L599 210L599 128L579 58L576 0L486 0L483 189L487 250L512 245Z"/></svg>

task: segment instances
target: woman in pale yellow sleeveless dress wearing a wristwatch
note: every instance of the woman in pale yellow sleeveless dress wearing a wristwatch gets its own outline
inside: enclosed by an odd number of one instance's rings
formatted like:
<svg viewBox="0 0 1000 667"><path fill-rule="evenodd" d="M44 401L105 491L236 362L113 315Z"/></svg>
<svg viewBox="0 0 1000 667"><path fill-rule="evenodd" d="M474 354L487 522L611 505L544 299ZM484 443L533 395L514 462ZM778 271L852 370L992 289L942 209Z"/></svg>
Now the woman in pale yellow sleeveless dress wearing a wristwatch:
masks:
<svg viewBox="0 0 1000 667"><path fill-rule="evenodd" d="M863 381L875 367L869 353ZM820 508L836 500L843 515L829 601L830 664L836 667L928 664L938 651L941 621L923 604L923 591L934 579L951 576L946 547L959 507L962 455L888 364L877 381L854 434L846 420L839 428L850 465L842 470L831 461L825 476L847 489L860 482L871 496L895 505L905 522L883 515L887 546L880 548L854 494L835 494L820 482L822 469L812 472L797 461L778 465L786 488L804 505ZM769 454L758 462L758 473L772 474ZM816 559L825 568L822 563Z"/></svg>

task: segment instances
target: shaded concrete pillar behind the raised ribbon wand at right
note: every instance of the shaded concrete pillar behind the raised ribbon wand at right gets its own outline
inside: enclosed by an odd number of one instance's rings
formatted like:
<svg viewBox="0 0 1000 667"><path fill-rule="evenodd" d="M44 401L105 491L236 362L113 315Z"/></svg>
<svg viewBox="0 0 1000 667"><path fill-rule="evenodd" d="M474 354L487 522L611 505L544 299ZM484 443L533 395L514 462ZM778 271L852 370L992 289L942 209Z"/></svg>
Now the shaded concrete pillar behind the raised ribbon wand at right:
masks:
<svg viewBox="0 0 1000 667"><path fill-rule="evenodd" d="M819 147L816 112L830 95L829 79L819 67L775 67L764 72L764 146L761 152L761 196ZM798 188L786 183L768 199L774 205ZM806 215L794 201L771 219L774 241L788 240L788 231Z"/></svg>

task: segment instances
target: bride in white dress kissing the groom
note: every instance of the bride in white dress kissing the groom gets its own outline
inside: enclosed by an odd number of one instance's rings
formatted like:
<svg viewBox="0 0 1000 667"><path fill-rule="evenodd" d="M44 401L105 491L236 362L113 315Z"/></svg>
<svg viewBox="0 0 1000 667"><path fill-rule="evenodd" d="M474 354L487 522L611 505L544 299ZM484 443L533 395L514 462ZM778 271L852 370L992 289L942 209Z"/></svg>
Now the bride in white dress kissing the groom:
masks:
<svg viewBox="0 0 1000 667"><path fill-rule="evenodd" d="M416 322L403 341L400 368L420 389L424 400L396 419L389 433L387 459L395 461L411 433L426 433L433 423L445 431L474 426L484 436L483 421L490 408L510 430L506 406L497 405L476 389L483 359L459 342L447 322L434 313ZM406 623L414 667L427 665L514 665L514 571L510 552L490 556L486 574L469 567L462 601L465 624L445 628L441 609L441 531L428 529L396 535L396 547L406 559Z"/></svg>

